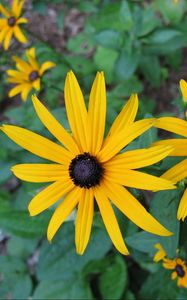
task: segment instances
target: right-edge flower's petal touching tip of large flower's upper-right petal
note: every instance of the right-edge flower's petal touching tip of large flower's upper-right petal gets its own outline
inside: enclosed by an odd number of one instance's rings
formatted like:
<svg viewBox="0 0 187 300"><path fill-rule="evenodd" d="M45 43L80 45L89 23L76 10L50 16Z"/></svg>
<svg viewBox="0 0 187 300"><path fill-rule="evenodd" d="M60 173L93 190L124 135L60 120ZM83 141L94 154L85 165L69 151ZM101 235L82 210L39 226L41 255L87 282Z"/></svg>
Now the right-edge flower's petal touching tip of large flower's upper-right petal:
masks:
<svg viewBox="0 0 187 300"><path fill-rule="evenodd" d="M154 126L187 137L187 122L184 120L163 117L157 119Z"/></svg>

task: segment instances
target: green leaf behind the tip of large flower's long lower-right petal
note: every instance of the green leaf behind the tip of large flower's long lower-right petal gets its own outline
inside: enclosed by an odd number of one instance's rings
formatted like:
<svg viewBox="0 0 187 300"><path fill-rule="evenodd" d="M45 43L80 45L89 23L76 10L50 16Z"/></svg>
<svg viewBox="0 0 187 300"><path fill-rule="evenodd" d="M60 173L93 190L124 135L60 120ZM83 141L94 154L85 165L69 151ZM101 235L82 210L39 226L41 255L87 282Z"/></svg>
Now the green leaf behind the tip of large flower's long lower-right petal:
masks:
<svg viewBox="0 0 187 300"><path fill-rule="evenodd" d="M173 232L172 236L159 237L163 248L170 258L176 255L179 242L179 221L177 220L177 208L180 195L181 191L179 189L158 192L153 197L150 206L150 212L154 215L154 217L168 230Z"/></svg>

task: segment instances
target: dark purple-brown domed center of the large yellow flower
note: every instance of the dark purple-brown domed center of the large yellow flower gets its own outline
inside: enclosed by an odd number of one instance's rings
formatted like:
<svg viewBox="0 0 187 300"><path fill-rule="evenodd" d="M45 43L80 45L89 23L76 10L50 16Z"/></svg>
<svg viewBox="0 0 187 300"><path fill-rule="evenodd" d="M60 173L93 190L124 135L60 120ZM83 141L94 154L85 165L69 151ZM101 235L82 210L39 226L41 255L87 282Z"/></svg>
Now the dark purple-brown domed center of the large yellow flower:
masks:
<svg viewBox="0 0 187 300"><path fill-rule="evenodd" d="M72 159L69 174L75 185L89 189L100 183L103 168L96 157L85 152Z"/></svg>

